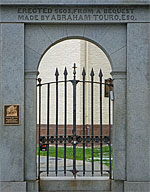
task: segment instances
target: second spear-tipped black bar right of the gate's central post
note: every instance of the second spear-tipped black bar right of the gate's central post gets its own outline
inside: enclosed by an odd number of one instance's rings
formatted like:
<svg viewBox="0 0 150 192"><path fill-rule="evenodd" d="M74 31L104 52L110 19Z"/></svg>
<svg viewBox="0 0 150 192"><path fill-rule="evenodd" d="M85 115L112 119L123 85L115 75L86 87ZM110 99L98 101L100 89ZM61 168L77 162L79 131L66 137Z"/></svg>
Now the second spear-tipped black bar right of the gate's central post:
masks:
<svg viewBox="0 0 150 192"><path fill-rule="evenodd" d="M93 105L93 94L94 94L94 90L93 90L93 80L94 80L94 71L93 71L93 68L91 70L91 135L92 135L92 143L91 143L91 146L92 146L92 176L94 175L94 143L93 143L93 136L94 136L94 127L93 127L93 118L94 118L94 115L93 115L93 108L94 108L94 105Z"/></svg>

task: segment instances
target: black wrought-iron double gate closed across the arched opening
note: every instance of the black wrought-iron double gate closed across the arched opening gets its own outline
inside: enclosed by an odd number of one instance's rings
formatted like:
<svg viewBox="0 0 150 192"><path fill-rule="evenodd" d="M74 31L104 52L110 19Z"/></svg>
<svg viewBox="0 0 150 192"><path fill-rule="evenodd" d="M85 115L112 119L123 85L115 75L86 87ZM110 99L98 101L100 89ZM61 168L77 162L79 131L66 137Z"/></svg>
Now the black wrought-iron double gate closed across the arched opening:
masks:
<svg viewBox="0 0 150 192"><path fill-rule="evenodd" d="M78 172L82 172L83 176L86 175L86 172L91 172L91 176L94 176L94 174L96 172L99 172L101 176L104 175L104 173L109 174L109 178L112 178L112 149L111 149L111 127L112 127L112 122L111 122L111 113L112 113L112 104L111 101L113 100L112 98L112 82L111 81L106 81L103 82L103 74L102 71L100 70L99 72L99 81L94 81L94 70L91 70L90 76L91 79L90 80L86 80L86 72L85 69L83 68L82 71L82 80L77 80L76 79L76 65L74 64L73 66L73 79L72 80L68 80L67 79L68 76L68 72L67 69L65 68L64 70L64 80L63 81L59 81L58 77L59 77L59 72L58 69L56 69L55 72L55 77L56 77L56 81L55 82L49 82L49 83L43 83L41 82L41 79L38 79L38 97L39 97L39 101L38 101L38 110L39 110L39 122L38 122L38 128L39 128L39 133L38 133L38 137L39 137L39 150L38 150L38 177L40 178L40 174L45 172L47 174L47 176L49 176L52 172L55 173L55 175L57 176L58 173L61 171L63 171L63 175L66 176L67 175L67 171L72 172L73 176L76 178L76 175ZM59 101L59 89L58 89L58 85L60 83L63 83L64 85L64 134L63 135L59 135L58 134L58 130L59 130L59 124L58 124L58 101ZM68 83L72 84L73 87L73 111L72 111L72 115L73 115L73 129L72 129L72 134L68 135L67 134L67 93L68 93L68 88L67 85ZM77 85L81 83L82 84L82 134L78 135L77 134L77 124L76 124L76 112L77 112L77 108L76 108L76 99L77 99ZM55 91L56 91L56 123L55 123L55 135L51 134L50 132L50 94L51 94L51 85L55 84ZM86 129L86 122L85 122L85 86L86 84L90 84L90 89L91 92L90 94L90 108L91 108L91 124L90 124L90 128L91 128L91 134L88 131L87 134L87 129ZM97 103L97 105L99 105L99 135L95 135L94 134L94 84L98 85L98 89L99 89L99 103ZM47 133L46 135L41 135L41 101L42 101L42 97L41 97L41 90L42 87L45 87L47 89ZM103 87L105 88L105 91L108 92L108 134L104 135L103 134L103 95L102 95L102 90ZM51 156L50 154L50 146L55 146L55 168L52 170L50 167L50 162L49 162L49 157ZM63 170L59 170L58 168L58 149L59 149L59 145L63 145L64 146L64 166L63 166ZM67 161L67 157L66 157L66 151L67 151L67 145L72 145L73 148L73 165L72 165L72 169L67 169L67 165L66 165L66 161ZM77 169L76 166L76 151L77 151L77 147L80 146L80 148L82 147L83 152L82 152L82 157L83 157L83 164L82 164L82 169ZM91 148L91 170L86 170L86 158L85 158L85 154L86 154L86 148L90 147ZM99 150L99 168L95 169L95 159L94 159L94 149L95 146L99 146L98 150ZM103 153L103 146L108 146L108 163L107 163L107 168L108 169L103 169L103 164L104 164L104 153ZM41 151L46 151L46 167L45 170L41 170Z"/></svg>

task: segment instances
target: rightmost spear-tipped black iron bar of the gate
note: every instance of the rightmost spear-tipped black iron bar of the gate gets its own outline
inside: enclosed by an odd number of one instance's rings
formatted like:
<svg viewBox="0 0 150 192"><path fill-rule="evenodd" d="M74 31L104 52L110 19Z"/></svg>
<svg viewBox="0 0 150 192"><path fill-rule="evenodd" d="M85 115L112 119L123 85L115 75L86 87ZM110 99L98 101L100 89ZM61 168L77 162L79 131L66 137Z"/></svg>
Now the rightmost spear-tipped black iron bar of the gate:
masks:
<svg viewBox="0 0 150 192"><path fill-rule="evenodd" d="M102 142L102 138L103 138L103 113L102 113L102 78L103 78L103 73L100 69L99 72L99 79L100 79L100 138L101 138L101 142L100 142L100 170L101 170L101 176L103 175L103 142Z"/></svg>

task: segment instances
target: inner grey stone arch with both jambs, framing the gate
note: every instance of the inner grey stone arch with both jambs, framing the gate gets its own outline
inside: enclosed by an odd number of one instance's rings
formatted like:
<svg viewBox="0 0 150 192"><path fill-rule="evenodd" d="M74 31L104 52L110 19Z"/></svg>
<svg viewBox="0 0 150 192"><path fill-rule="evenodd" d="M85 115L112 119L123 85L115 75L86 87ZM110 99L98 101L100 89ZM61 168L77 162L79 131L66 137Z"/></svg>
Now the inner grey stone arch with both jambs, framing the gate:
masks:
<svg viewBox="0 0 150 192"><path fill-rule="evenodd" d="M94 30L94 32L93 32ZM35 36L36 33L36 36ZM117 33L117 35L116 35ZM54 35L55 34L55 35ZM54 35L54 37L53 37ZM53 39L50 39L50 37ZM115 94L117 94L115 97L115 106L114 110L116 113L115 119L114 119L114 126L115 126L115 132L114 132L114 151L117 151L117 154L119 154L117 157L114 157L114 178L117 180L124 180L125 179L125 119L126 115L124 113L124 110L122 110L122 113L120 112L120 109L125 109L125 103L126 103L126 26L125 25L95 25L95 26L90 26L90 25L73 25L73 26L68 26L68 25L60 25L60 26L55 26L55 25L26 25L25 27L25 63L26 63L26 69L25 69L25 79L26 79L26 86L27 89L25 92L28 95L25 99L25 104L27 108L31 108L31 113L33 115L33 108L35 108L35 100L33 100L33 95L34 98L36 98L36 75L37 75L37 67L38 63L40 62L42 56L44 55L45 51L50 48L51 46L55 45L56 43L60 42L61 40L64 39L70 39L70 38L80 38L80 39L86 39L100 48L102 48L105 53L107 54L111 65L112 65L112 75L114 79L114 89L115 89ZM31 78L33 78L31 80ZM29 83L30 82L30 83ZM29 87L28 87L29 86ZM121 86L121 89L118 87ZM28 92L28 89L32 90L32 93ZM118 97L119 95L119 97ZM32 99L31 99L32 97ZM29 101L30 100L30 101ZM32 103L31 103L32 101ZM32 107L31 107L32 106ZM120 108L120 109L119 109ZM34 109L34 119L29 121L29 118L31 117L31 113L29 110L27 111L27 119L28 122L31 123L32 126L28 124L28 128L25 128L26 130L28 129L28 133L26 135L26 143L33 142L29 141L28 134L33 133L33 125L34 125L34 130L36 129L36 108ZM119 111L119 114L117 114L117 111ZM122 120L122 122L116 121L118 117ZM123 123L124 119L124 123ZM122 127L121 127L122 125ZM32 130L29 129L31 127ZM117 129L119 129L117 131ZM117 135L117 133L119 135ZM35 138L35 133L34 138ZM121 136L122 134L122 136ZM120 145L120 141L117 141L115 137L121 136L122 145ZM32 138L32 137L31 137ZM34 142L35 146L35 142ZM122 150L124 149L124 150ZM30 157L32 154L32 158L35 160L35 154L34 150L35 148L28 149L28 153L30 151ZM25 155L26 157L28 156ZM121 158L121 159L120 159ZM120 161L121 164L118 164L117 162ZM32 164L32 163L33 164ZM36 178L36 164L35 161L30 161L27 158L25 161L26 165L26 178L27 180L30 180L31 178L34 179ZM117 170L117 172L115 172ZM118 172L120 170L120 172Z"/></svg>

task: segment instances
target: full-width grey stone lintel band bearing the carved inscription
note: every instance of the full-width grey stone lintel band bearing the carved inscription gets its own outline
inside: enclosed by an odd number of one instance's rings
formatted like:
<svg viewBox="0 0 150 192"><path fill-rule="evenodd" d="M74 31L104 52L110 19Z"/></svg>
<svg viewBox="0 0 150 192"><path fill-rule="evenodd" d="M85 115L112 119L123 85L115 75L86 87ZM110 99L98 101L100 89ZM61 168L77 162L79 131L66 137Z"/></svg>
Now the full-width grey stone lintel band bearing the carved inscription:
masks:
<svg viewBox="0 0 150 192"><path fill-rule="evenodd" d="M150 22L149 6L3 6L1 22L23 23L137 23Z"/></svg>

